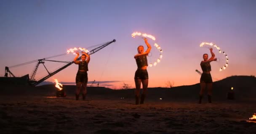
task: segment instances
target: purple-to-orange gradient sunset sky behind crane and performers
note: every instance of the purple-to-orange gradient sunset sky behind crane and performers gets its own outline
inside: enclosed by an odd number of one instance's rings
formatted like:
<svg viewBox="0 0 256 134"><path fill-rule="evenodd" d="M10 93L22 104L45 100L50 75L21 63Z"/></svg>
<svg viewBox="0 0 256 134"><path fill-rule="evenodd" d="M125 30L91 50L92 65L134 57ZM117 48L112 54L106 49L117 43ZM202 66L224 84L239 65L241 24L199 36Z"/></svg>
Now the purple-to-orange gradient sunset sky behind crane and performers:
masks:
<svg viewBox="0 0 256 134"><path fill-rule="evenodd" d="M134 85L137 47L144 44L131 33L155 36L149 39L155 61L163 49L163 59L148 67L149 87L192 85L199 82L200 61L213 42L229 56L229 67L219 72L220 62L212 62L213 81L232 75L256 75L256 0L0 0L0 76L5 66L64 54L72 47L90 47L116 39L91 55L89 81L118 81ZM51 60L72 61L67 54ZM11 67L16 76L31 75L36 63ZM50 72L63 64L45 62ZM75 82L78 66L72 64L53 78ZM41 64L36 79L47 75ZM100 84L101 85L101 84Z"/></svg>

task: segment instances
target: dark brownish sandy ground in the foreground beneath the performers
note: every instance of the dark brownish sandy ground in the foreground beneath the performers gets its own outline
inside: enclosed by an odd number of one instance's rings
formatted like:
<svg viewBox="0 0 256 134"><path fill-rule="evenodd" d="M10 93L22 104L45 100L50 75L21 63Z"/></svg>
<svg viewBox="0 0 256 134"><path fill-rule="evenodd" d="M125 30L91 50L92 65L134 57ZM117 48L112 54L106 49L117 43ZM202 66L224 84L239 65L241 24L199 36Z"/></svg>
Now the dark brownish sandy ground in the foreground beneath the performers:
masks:
<svg viewBox="0 0 256 134"><path fill-rule="evenodd" d="M1 95L1 134L256 134L255 102Z"/></svg>

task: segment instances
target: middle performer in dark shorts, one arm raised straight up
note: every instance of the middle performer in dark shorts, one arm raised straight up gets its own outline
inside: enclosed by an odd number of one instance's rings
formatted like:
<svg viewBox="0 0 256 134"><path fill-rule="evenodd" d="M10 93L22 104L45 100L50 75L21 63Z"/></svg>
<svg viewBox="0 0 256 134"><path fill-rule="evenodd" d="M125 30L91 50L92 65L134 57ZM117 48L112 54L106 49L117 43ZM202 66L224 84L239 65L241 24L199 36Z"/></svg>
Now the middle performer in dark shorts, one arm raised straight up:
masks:
<svg viewBox="0 0 256 134"><path fill-rule="evenodd" d="M141 100L140 104L144 103L144 99L147 95L147 86L149 82L149 76L147 72L147 55L149 54L151 50L150 44L147 42L147 38L143 38L145 41L145 44L147 45L147 51L144 52L144 46L139 46L137 48L138 54L134 56L136 59L136 64L138 69L135 72L134 76L134 81L136 85L136 90L135 90L135 99L136 99L136 105L139 104L139 94L140 94L140 89L141 89L141 82L142 82L142 87L143 87L143 93L141 94Z"/></svg>

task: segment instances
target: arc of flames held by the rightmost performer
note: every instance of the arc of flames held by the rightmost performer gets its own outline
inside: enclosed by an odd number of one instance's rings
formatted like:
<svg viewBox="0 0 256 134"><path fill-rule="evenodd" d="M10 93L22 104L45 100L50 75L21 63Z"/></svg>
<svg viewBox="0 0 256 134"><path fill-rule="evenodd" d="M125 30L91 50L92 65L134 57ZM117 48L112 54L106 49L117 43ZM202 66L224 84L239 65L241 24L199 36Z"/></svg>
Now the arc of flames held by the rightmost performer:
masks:
<svg viewBox="0 0 256 134"><path fill-rule="evenodd" d="M203 46L208 46L208 48L215 48L218 50L219 54L223 55L223 57L225 57L225 62L224 62L224 65L221 65L222 67L219 69L219 71L222 71L222 70L225 70L227 67L228 67L228 57L227 57L227 54L224 52L224 51L221 51L220 47L217 46L216 44L213 44L213 43L208 43L208 42L202 42L200 44L200 47L203 47ZM220 59L221 57L217 58L219 60L217 60L217 62L220 62Z"/></svg>

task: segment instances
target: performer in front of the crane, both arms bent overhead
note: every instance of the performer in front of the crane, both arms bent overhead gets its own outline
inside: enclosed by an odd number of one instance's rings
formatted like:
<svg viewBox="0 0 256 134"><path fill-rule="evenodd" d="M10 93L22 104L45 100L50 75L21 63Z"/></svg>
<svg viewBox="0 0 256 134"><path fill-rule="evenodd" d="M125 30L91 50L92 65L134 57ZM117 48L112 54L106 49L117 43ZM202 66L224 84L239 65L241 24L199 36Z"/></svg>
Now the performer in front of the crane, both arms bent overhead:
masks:
<svg viewBox="0 0 256 134"><path fill-rule="evenodd" d="M79 57L79 52L77 52L77 56L74 59L74 63L79 65L77 75L75 78L75 82L77 86L77 89L75 91L75 99L79 100L79 95L82 87L83 100L85 100L85 96L87 94L87 90L86 90L86 86L88 82L87 71L88 71L88 64L90 62L90 55L82 51L82 56L81 56L82 61L77 60L78 57Z"/></svg>

